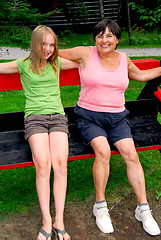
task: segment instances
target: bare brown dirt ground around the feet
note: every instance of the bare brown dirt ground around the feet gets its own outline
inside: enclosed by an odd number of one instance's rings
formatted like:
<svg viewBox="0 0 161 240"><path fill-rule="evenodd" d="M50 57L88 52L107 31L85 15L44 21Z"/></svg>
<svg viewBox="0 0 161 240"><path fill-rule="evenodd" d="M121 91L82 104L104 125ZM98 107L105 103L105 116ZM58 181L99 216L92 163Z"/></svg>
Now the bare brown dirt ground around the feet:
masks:
<svg viewBox="0 0 161 240"><path fill-rule="evenodd" d="M149 199L155 213L155 219L161 227L161 201L154 196ZM141 223L134 218L136 199L129 194L122 201L110 209L115 232L102 234L95 225L92 215L92 203L90 205L68 205L65 208L66 229L72 240L159 240L149 236L141 227ZM52 209L54 215L54 211ZM35 240L41 226L41 214L39 207L30 208L26 214L14 214L10 217L0 215L0 240ZM54 236L53 238L54 239Z"/></svg>

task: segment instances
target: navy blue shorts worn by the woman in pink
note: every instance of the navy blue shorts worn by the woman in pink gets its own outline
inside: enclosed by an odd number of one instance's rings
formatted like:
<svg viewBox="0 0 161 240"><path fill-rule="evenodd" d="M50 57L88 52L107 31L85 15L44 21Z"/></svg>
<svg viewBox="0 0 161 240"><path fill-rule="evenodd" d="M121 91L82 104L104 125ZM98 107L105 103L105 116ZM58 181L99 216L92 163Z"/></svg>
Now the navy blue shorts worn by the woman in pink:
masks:
<svg viewBox="0 0 161 240"><path fill-rule="evenodd" d="M132 138L130 124L126 119L129 114L127 109L120 113L95 112L77 105L74 112L85 145L98 136L106 137L111 143Z"/></svg>

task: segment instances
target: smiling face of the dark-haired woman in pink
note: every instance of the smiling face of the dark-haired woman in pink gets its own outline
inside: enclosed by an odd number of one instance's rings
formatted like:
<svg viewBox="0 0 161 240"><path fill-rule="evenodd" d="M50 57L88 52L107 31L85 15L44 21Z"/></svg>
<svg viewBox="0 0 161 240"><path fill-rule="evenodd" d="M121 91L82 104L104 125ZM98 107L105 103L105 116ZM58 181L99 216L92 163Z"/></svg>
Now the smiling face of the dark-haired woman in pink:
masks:
<svg viewBox="0 0 161 240"><path fill-rule="evenodd" d="M95 38L97 51L100 54L111 53L112 51L115 50L118 42L119 40L112 32L109 31L108 27L106 27L104 34L100 32L99 34L96 35Z"/></svg>

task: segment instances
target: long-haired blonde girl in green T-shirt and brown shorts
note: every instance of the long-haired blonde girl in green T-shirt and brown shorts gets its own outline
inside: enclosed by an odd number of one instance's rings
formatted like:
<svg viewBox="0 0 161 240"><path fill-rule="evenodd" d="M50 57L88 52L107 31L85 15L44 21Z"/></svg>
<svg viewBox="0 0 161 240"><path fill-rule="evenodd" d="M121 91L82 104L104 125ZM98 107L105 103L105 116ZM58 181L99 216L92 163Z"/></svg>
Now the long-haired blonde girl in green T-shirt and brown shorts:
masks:
<svg viewBox="0 0 161 240"><path fill-rule="evenodd" d="M38 26L32 33L31 52L26 59L1 63L0 73L20 73L26 97L25 138L36 168L36 188L42 212L37 240L69 240L63 213L67 187L68 123L60 99L60 69L78 67L58 57L53 30ZM54 170L55 221L50 215L50 172Z"/></svg>

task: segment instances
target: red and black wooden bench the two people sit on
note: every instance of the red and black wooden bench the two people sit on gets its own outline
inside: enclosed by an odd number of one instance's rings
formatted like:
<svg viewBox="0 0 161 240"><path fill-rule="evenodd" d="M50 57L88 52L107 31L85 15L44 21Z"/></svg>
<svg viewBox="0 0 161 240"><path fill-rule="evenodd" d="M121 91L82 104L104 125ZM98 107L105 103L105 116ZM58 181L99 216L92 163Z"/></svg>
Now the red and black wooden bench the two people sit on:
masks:
<svg viewBox="0 0 161 240"><path fill-rule="evenodd" d="M160 66L156 59L133 60L141 69ZM161 92L157 91L161 78L146 83L137 100L127 101L130 111L128 120L137 151L161 149L161 125L157 120L161 112ZM60 86L80 85L78 69L61 71ZM19 74L0 74L0 91L22 89ZM69 120L68 161L94 157L90 147L82 144L77 131L74 106L65 107ZM112 155L119 152L111 146ZM0 170L32 166L32 155L28 142L24 139L24 112L0 113Z"/></svg>

